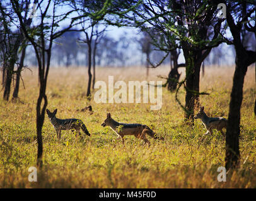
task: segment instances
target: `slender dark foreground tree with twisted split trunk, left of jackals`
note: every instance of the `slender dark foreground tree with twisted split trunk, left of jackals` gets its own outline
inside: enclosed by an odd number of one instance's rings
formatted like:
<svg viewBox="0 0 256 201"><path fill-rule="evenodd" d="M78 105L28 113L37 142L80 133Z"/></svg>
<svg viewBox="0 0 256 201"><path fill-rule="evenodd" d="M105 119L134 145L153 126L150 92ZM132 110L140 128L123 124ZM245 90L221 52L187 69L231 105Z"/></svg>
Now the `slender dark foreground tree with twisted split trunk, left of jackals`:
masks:
<svg viewBox="0 0 256 201"><path fill-rule="evenodd" d="M37 99L37 165L42 166L43 155L43 141L42 141L42 126L44 124L45 109L47 107L47 77L50 68L50 58L52 52L52 45L56 38L63 35L66 31L72 31L73 27L79 24L78 17L69 18L74 13L73 9L67 12L57 12L58 8L65 6L61 1L48 0L37 1L38 24L37 26L28 27L23 21L21 13L23 9L20 7L20 1L11 0L11 6L15 12L18 23L28 41L33 46L38 63L38 80L39 80L39 95ZM51 9L52 10L51 10ZM58 13L58 14L57 14ZM69 26L66 28L59 28L59 23L64 19L69 20Z"/></svg>

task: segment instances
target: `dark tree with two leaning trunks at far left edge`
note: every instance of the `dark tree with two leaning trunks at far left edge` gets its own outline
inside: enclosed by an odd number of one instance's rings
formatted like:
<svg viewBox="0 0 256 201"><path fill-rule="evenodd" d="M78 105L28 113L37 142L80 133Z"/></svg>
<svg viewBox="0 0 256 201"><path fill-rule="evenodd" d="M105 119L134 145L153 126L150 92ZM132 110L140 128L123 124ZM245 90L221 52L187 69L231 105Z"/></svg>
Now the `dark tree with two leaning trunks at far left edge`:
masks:
<svg viewBox="0 0 256 201"><path fill-rule="evenodd" d="M23 9L23 15L21 16L25 26L30 26L32 23L32 18L30 18L29 5L31 1L26 0L20 3L21 9ZM0 2L0 12L1 12L1 22L3 24L3 34L4 39L1 43L5 46L5 52L3 57L3 86L4 86L4 100L9 100L9 95L11 92L11 81L16 73L16 84L15 90L13 91L13 100L18 98L18 91L20 87L20 76L21 70L23 68L23 63L25 59L26 51L26 41L23 31L18 27L17 30L11 29L11 25L15 23L15 16L12 10L9 10L9 2ZM18 62L18 50L23 45L21 50L20 62ZM15 72L15 64L18 68Z"/></svg>

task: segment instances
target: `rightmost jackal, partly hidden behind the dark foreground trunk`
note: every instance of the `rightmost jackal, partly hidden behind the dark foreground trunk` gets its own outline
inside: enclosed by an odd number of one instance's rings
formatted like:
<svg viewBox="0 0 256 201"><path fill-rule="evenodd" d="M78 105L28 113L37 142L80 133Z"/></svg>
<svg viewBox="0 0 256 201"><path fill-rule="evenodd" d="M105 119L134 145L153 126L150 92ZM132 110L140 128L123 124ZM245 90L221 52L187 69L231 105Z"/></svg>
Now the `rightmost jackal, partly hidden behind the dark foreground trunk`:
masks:
<svg viewBox="0 0 256 201"><path fill-rule="evenodd" d="M204 112L204 107L200 107L199 112L195 115L195 119L202 119L204 127L207 129L207 132L204 134L212 134L212 129L217 129L221 131L221 134L224 135L222 129L226 128L228 120L223 117L208 117Z"/></svg>

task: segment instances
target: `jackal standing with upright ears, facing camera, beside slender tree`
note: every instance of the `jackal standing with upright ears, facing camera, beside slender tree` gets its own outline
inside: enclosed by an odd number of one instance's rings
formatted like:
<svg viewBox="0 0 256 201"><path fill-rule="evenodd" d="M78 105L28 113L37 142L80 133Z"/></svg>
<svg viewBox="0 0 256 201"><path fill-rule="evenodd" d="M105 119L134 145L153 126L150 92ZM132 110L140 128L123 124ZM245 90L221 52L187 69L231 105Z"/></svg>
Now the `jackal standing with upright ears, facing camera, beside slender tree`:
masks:
<svg viewBox="0 0 256 201"><path fill-rule="evenodd" d="M57 138L61 139L61 130L76 130L80 133L80 128L84 131L85 134L90 136L91 134L87 130L86 126L84 125L83 121L80 119L58 119L56 117L57 109L54 112L50 112L49 109L46 109L50 122L52 126L54 126L55 131L57 133Z"/></svg>

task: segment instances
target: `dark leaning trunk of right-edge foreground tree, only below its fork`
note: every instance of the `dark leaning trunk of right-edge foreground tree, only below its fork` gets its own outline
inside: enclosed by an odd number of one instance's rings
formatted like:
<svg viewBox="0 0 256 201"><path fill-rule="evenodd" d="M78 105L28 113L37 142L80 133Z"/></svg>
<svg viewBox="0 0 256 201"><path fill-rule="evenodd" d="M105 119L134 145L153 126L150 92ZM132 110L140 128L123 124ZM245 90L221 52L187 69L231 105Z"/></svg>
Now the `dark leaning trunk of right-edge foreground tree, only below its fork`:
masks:
<svg viewBox="0 0 256 201"><path fill-rule="evenodd" d="M240 158L240 109L243 100L243 82L248 66L243 61L243 56L236 55L236 69L233 77L233 87L230 95L230 112L226 129L226 169L238 165Z"/></svg>

